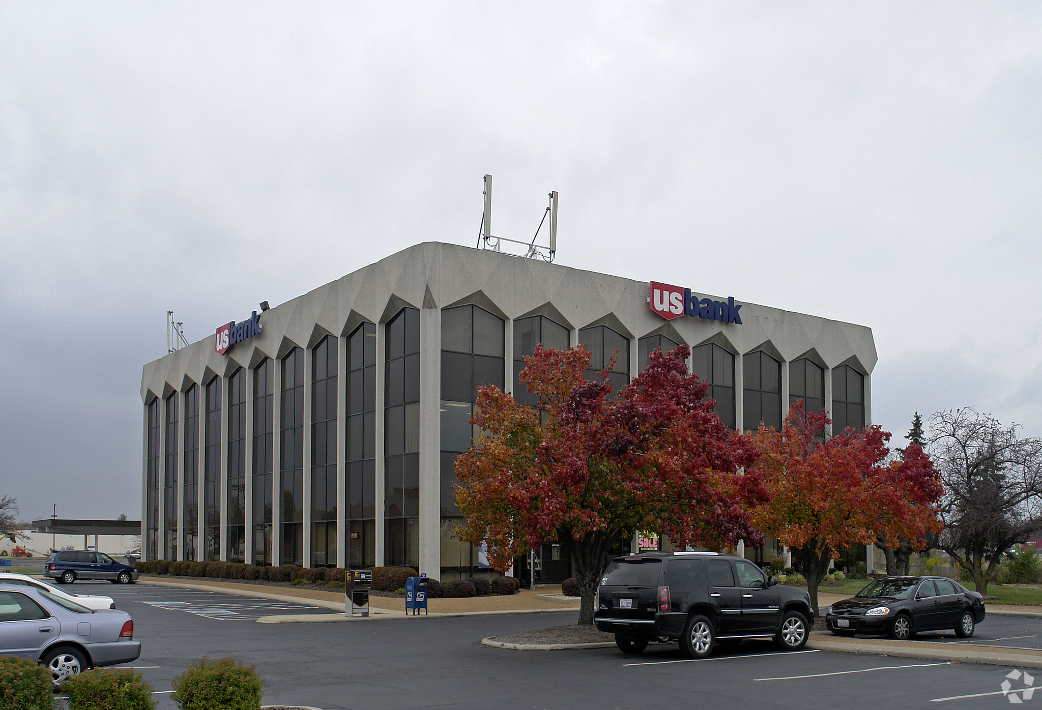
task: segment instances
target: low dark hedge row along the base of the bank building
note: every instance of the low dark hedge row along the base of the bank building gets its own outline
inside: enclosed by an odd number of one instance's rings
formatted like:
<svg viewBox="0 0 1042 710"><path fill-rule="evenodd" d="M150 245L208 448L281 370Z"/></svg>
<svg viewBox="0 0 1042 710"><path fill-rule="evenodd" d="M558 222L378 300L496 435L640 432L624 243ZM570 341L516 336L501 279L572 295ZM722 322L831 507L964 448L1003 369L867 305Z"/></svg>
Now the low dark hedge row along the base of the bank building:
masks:
<svg viewBox="0 0 1042 710"><path fill-rule="evenodd" d="M242 564L237 562L185 562L151 560L138 562L143 575L174 575L177 577L213 577L216 579L265 580L268 582L344 582L348 572L344 567L298 567L283 564L278 567ZM410 577L419 577L413 567L373 567L373 589L397 591L405 586ZM442 584L436 579L427 581L431 599L456 597L487 597L489 594L516 594L521 580L516 577L471 577Z"/></svg>

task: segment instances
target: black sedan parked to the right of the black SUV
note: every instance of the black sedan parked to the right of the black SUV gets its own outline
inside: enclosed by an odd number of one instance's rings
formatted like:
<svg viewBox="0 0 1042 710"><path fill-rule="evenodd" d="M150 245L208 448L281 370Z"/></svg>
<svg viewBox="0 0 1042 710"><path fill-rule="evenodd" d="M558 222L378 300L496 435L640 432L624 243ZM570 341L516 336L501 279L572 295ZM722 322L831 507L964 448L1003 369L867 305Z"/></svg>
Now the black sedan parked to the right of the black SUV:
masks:
<svg viewBox="0 0 1042 710"><path fill-rule="evenodd" d="M828 607L825 624L838 636L953 630L968 638L984 620L984 598L946 577L886 577Z"/></svg>

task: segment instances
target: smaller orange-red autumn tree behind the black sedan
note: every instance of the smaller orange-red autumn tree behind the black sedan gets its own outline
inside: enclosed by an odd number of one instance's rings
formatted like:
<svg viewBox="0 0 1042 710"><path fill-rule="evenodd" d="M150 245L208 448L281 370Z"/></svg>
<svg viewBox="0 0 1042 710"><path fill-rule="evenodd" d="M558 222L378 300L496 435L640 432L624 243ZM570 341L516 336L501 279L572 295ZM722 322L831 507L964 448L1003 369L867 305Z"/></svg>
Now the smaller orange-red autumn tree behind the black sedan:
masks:
<svg viewBox="0 0 1042 710"><path fill-rule="evenodd" d="M891 546L921 540L939 527L934 504L941 496L921 448L892 457L890 434L878 425L823 440L828 423L824 412L796 404L782 431L762 427L748 435L761 453L749 473L763 476L770 495L753 519L792 549L816 614L818 586L840 550L877 538Z"/></svg>

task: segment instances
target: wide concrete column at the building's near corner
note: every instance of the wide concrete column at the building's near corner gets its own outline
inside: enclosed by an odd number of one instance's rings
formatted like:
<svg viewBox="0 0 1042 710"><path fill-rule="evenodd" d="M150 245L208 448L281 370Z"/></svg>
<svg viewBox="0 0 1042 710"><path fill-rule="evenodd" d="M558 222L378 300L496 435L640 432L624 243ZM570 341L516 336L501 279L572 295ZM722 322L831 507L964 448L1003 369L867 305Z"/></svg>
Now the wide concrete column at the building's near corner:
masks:
<svg viewBox="0 0 1042 710"><path fill-rule="evenodd" d="M442 570L442 311L420 309L420 573Z"/></svg>

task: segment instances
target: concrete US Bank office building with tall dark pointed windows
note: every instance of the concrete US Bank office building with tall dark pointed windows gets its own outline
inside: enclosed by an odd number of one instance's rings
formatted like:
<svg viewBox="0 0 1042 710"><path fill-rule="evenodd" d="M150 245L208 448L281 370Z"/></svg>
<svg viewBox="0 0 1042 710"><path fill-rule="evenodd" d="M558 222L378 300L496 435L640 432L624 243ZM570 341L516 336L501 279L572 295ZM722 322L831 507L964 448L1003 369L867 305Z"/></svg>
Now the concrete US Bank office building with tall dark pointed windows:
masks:
<svg viewBox="0 0 1042 710"><path fill-rule="evenodd" d="M619 384L688 344L731 427L777 427L799 399L871 422L869 328L495 251L421 244L230 315L144 367L146 559L465 576L453 461L478 385L529 397L538 343L584 344L595 370L617 351Z"/></svg>

